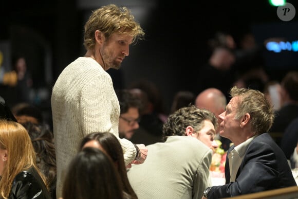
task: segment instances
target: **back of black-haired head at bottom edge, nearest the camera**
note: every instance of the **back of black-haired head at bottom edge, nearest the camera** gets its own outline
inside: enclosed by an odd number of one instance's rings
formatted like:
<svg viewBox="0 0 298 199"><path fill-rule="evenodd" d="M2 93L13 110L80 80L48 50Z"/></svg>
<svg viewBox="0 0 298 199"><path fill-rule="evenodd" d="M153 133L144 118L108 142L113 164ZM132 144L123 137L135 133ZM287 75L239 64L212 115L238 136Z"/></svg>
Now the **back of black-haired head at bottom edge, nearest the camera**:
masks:
<svg viewBox="0 0 298 199"><path fill-rule="evenodd" d="M113 161L92 147L84 148L71 160L62 195L63 199L124 198Z"/></svg>

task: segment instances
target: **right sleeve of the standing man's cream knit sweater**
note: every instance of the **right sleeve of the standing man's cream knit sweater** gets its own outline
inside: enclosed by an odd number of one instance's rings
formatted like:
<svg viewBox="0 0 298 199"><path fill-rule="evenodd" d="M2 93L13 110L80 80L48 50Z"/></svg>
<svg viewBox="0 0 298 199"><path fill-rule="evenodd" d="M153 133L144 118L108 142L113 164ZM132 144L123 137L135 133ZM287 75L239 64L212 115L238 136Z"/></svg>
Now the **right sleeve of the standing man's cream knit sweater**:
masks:
<svg viewBox="0 0 298 199"><path fill-rule="evenodd" d="M125 165L133 161L137 153L134 144L119 138L120 107L110 76L102 73L92 78L84 86L80 102L83 135L95 131L113 133L121 143Z"/></svg>

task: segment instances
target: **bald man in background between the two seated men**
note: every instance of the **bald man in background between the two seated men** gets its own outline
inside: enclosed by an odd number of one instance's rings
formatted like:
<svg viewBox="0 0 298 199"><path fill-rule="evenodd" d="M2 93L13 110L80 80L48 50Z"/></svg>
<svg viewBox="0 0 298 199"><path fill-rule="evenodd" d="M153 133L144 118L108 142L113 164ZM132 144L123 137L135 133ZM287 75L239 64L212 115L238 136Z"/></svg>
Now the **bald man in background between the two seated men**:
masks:
<svg viewBox="0 0 298 199"><path fill-rule="evenodd" d="M226 110L226 96L217 88L207 88L196 97L195 106L204 108L212 112L218 119L218 116ZM215 139L222 143L222 149L227 151L230 148L231 141L219 135L219 125L216 129Z"/></svg>

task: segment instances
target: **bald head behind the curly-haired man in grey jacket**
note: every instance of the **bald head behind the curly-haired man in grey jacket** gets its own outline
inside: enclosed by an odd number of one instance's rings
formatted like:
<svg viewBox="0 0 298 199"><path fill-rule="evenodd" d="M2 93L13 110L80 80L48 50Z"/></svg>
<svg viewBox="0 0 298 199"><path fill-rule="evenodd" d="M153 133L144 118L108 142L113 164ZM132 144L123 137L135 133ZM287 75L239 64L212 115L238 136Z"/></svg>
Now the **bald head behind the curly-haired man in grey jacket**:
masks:
<svg viewBox="0 0 298 199"><path fill-rule="evenodd" d="M195 105L214 113L216 117L226 110L226 96L217 88L207 88L196 98Z"/></svg>

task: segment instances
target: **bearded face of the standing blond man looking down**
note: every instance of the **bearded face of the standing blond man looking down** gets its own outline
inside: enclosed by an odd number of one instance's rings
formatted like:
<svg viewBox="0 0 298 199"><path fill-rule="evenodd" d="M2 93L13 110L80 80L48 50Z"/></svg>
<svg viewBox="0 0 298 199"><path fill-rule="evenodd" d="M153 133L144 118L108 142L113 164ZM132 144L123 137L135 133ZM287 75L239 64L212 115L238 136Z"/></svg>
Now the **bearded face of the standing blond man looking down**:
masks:
<svg viewBox="0 0 298 199"><path fill-rule="evenodd" d="M125 34L114 33L100 48L100 53L105 69L119 69L123 59L129 55L129 45L133 37Z"/></svg>

